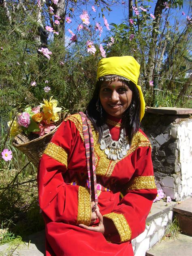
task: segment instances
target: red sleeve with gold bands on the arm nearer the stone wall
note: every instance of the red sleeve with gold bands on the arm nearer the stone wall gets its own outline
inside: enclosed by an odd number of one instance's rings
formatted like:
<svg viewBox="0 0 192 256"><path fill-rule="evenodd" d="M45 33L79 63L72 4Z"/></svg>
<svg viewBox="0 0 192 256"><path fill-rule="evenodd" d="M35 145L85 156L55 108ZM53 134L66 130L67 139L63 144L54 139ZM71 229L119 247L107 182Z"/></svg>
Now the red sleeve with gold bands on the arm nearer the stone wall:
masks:
<svg viewBox="0 0 192 256"><path fill-rule="evenodd" d="M151 161L151 147L139 147L132 153L134 174L122 191L124 197L104 218L113 221L118 233L110 235L115 243L129 241L145 230L145 220L157 190Z"/></svg>

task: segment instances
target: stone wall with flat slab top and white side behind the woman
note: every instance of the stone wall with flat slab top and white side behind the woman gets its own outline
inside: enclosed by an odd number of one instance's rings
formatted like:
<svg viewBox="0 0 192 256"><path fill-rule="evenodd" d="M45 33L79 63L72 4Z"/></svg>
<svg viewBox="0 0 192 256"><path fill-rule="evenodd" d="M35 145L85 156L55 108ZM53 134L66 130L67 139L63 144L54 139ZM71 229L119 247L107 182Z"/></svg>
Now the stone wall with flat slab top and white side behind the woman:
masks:
<svg viewBox="0 0 192 256"><path fill-rule="evenodd" d="M166 196L192 194L192 109L148 108L143 131L152 145L154 175Z"/></svg>

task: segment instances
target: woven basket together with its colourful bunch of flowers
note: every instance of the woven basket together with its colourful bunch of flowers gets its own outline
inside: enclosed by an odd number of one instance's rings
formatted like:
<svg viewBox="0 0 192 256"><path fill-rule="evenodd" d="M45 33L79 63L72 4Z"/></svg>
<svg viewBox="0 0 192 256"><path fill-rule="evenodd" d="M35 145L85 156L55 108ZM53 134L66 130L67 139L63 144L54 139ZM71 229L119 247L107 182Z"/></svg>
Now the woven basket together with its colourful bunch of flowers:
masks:
<svg viewBox="0 0 192 256"><path fill-rule="evenodd" d="M38 107L26 107L14 121L8 123L11 136L15 136L14 147L26 154L36 167L53 134L69 115L66 110L61 112L62 108L57 105L57 100L52 96Z"/></svg>

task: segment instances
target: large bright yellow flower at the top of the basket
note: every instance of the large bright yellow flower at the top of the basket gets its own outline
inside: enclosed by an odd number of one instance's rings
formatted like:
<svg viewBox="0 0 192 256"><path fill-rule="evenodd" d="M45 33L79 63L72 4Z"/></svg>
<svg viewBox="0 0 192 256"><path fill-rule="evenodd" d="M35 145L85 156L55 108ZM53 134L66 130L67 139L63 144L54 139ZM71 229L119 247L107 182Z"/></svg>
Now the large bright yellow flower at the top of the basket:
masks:
<svg viewBox="0 0 192 256"><path fill-rule="evenodd" d="M51 119L53 122L59 121L59 116L57 112L61 111L62 108L58 108L58 101L52 100L53 96L48 100L43 100L44 104L41 103L41 107L43 107L44 117L47 118L47 123L50 124ZM50 115L51 114L51 115Z"/></svg>

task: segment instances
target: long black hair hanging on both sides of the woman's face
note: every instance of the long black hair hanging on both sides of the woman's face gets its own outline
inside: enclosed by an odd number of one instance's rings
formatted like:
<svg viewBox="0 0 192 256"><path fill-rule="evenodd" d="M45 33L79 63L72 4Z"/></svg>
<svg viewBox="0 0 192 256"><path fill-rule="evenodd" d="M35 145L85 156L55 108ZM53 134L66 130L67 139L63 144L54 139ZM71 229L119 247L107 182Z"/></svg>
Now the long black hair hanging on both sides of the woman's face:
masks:
<svg viewBox="0 0 192 256"><path fill-rule="evenodd" d="M94 129L97 130L99 133L98 142L100 142L102 138L102 134L104 131L104 124L107 119L107 113L103 109L99 99L99 92L100 92L102 82L103 81L98 81L96 83L96 87L95 87L92 99L90 100L85 110L85 114L91 120L94 126ZM126 111L123 113L122 124L121 124L121 128L125 128L126 131L128 132L127 135L128 135L129 143L131 144L132 138L134 134L139 130L139 126L140 126L141 102L140 102L139 91L137 90L136 85L132 81L122 81L122 82L124 85L126 84L132 91L131 104L128 107L128 109L126 109ZM98 108L99 108L99 111L98 111Z"/></svg>

